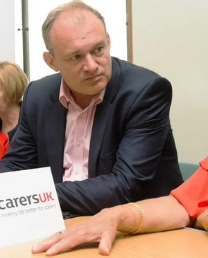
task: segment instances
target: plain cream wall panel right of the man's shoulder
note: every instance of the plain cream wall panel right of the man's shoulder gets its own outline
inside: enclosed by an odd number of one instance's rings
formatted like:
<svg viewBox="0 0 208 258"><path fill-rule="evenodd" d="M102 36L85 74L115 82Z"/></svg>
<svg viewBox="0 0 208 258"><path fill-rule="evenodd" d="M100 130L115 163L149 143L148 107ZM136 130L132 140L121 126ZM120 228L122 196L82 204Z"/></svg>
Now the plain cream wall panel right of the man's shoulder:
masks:
<svg viewBox="0 0 208 258"><path fill-rule="evenodd" d="M208 1L132 0L133 60L173 86L179 160L208 155Z"/></svg>

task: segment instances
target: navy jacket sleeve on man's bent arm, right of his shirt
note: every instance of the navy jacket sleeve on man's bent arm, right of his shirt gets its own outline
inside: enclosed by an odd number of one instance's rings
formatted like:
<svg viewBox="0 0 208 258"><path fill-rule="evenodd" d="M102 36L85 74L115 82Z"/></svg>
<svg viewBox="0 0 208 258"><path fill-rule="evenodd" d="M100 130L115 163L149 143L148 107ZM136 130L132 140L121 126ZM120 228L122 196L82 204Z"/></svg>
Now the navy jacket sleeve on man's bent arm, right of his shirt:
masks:
<svg viewBox="0 0 208 258"><path fill-rule="evenodd" d="M148 83L128 113L116 163L109 174L85 181L57 183L62 210L95 214L103 208L141 199L153 178L170 128L171 84L164 78ZM128 101L128 100L127 100Z"/></svg>

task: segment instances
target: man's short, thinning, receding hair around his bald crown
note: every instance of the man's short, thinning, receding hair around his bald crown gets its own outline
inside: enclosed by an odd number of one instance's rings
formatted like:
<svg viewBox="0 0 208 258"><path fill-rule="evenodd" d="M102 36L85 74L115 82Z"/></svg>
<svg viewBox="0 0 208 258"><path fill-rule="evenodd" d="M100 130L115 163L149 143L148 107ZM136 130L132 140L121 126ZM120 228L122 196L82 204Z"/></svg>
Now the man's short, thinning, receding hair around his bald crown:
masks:
<svg viewBox="0 0 208 258"><path fill-rule="evenodd" d="M98 19L101 20L103 23L103 26L106 30L105 26L105 19L103 16L98 12L96 9L92 8L91 6L88 6L87 3L84 3L80 0L73 0L69 3L64 3L57 8L51 10L49 12L49 15L46 17L46 20L44 21L44 24L42 25L42 37L44 39L44 44L46 45L46 49L49 50L50 53L53 53L53 47L51 44L51 27L53 26L54 21L60 17L62 12L67 12L69 10L89 10L89 12L92 12Z"/></svg>

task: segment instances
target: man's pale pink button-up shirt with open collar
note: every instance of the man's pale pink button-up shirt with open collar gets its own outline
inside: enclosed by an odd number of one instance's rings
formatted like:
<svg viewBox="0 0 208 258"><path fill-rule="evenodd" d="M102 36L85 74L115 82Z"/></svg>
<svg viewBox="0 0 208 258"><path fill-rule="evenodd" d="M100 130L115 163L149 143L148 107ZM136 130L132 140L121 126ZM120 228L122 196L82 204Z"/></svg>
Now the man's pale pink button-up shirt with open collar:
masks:
<svg viewBox="0 0 208 258"><path fill-rule="evenodd" d="M96 105L103 101L105 90L94 95L84 110L74 102L71 91L62 79L59 100L68 109L64 141L63 181L88 178L89 143Z"/></svg>

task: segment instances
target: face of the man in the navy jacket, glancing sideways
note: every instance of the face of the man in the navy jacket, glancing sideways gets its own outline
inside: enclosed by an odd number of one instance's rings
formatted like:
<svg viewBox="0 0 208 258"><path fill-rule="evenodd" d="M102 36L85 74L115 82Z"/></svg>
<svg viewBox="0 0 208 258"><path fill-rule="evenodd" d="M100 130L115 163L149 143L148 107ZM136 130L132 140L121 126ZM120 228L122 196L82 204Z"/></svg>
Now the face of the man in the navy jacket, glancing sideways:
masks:
<svg viewBox="0 0 208 258"><path fill-rule="evenodd" d="M65 14L53 24L53 64L73 93L95 95L111 77L110 37L94 14L82 12L83 22Z"/></svg>

